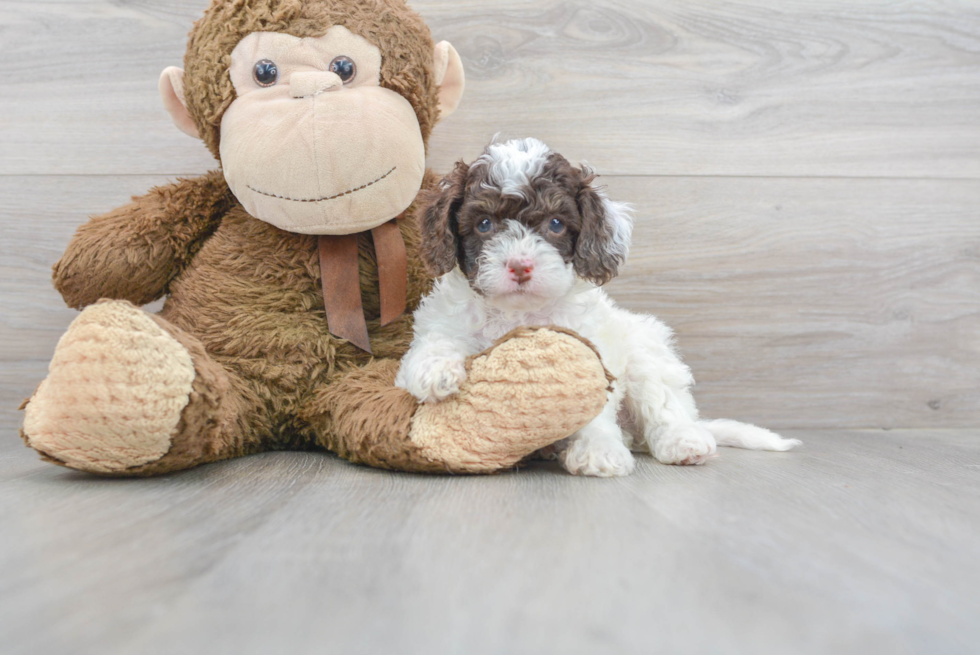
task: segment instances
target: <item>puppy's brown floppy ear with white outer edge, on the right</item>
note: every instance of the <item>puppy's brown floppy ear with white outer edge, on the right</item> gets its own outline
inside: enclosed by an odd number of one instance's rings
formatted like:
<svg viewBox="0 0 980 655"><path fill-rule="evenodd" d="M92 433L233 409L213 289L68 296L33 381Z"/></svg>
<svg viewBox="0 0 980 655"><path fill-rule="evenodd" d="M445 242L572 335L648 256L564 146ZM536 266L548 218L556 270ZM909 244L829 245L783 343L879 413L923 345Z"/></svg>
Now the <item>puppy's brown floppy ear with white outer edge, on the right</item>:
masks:
<svg viewBox="0 0 980 655"><path fill-rule="evenodd" d="M603 189L592 185L595 171L588 166L576 169L579 191L576 197L582 230L575 244L575 272L602 286L616 277L626 262L633 235L633 208L606 197Z"/></svg>

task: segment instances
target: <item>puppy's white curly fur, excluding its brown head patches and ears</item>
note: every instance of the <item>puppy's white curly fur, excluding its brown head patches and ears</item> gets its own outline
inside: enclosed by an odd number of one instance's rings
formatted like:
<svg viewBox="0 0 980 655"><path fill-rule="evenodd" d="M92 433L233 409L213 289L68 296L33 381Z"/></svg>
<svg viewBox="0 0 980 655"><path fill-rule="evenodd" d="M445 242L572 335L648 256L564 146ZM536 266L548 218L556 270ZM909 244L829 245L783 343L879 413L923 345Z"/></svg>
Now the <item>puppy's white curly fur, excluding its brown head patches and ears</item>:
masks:
<svg viewBox="0 0 980 655"><path fill-rule="evenodd" d="M501 147L497 153L493 148L491 159L499 161L487 163L506 172L501 183L533 169L525 155L537 149ZM504 161L507 153L516 161ZM631 212L605 200L606 220L616 235L609 248L625 253ZM507 274L508 262L515 259L533 262L528 282L517 283ZM468 356L514 328L549 325L574 330L595 344L616 377L603 412L551 449L570 473L628 475L635 465L631 446L649 449L665 464L703 464L719 444L788 450L800 443L754 425L699 421L691 395L694 379L674 350L670 328L653 316L617 307L601 288L578 278L572 264L540 234L514 220L484 246L472 286L458 268L436 281L415 312L415 339L395 384L420 402L438 402L459 390Z"/></svg>

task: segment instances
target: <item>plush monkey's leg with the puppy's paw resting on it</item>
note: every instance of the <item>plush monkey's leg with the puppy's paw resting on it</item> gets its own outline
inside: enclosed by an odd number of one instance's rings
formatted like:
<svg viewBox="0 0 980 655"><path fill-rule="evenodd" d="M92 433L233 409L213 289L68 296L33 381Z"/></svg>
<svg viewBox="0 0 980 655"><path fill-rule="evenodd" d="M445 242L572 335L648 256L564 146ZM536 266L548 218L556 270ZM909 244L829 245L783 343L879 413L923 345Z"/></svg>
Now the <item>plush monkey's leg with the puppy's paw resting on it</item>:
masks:
<svg viewBox="0 0 980 655"><path fill-rule="evenodd" d="M609 378L579 337L524 329L472 358L460 392L419 405L376 360L321 389L303 412L326 448L353 462L419 472L491 473L586 425Z"/></svg>

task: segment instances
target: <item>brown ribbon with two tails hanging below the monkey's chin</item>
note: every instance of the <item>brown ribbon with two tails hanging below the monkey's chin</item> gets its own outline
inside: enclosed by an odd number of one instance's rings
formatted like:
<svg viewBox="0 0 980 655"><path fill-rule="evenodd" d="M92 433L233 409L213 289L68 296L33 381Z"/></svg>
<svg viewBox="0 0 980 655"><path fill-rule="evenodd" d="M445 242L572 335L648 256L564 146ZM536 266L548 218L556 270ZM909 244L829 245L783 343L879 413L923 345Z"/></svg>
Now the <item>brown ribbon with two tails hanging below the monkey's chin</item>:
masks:
<svg viewBox="0 0 980 655"><path fill-rule="evenodd" d="M402 217L404 214L371 230L378 259L381 325L388 325L404 314L408 305L408 254L397 223ZM320 237L323 306L330 334L371 352L361 301L357 238L357 234Z"/></svg>

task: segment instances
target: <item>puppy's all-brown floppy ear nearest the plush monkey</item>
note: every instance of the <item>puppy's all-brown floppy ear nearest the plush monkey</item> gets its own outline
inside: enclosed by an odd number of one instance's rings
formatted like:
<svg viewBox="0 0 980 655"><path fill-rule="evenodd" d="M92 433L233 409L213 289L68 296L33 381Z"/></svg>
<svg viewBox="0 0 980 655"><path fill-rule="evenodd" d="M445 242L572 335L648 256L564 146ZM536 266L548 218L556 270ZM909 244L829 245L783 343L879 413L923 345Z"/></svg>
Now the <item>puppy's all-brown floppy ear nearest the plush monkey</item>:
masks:
<svg viewBox="0 0 980 655"><path fill-rule="evenodd" d="M459 234L456 213L466 195L466 179L470 167L462 161L453 172L432 189L423 192L419 207L419 228L422 231L422 262L435 277L456 268L456 239Z"/></svg>

